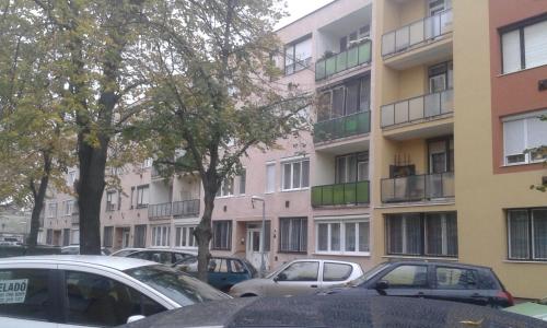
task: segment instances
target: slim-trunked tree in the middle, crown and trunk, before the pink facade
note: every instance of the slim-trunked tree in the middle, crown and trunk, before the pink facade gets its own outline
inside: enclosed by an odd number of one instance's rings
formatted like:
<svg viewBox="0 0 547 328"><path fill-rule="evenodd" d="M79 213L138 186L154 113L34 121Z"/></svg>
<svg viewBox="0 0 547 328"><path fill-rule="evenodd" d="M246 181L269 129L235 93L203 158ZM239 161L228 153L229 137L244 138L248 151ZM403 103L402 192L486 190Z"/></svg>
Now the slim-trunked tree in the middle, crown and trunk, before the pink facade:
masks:
<svg viewBox="0 0 547 328"><path fill-rule="evenodd" d="M205 190L195 230L198 271L207 280L211 215L222 181L241 169L251 148L268 149L306 127L311 97L276 78L271 0L162 1L149 16L158 39L147 54L151 81L147 124L135 129L155 142L156 165L193 172ZM143 133L147 131L148 133Z"/></svg>

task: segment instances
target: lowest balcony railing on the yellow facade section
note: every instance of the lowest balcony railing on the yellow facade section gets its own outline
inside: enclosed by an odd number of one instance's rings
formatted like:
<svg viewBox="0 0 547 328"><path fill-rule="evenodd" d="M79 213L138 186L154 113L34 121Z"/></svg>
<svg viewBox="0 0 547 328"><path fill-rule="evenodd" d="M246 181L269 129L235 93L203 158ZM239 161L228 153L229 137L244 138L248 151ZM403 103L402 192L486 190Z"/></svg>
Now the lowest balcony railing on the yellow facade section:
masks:
<svg viewBox="0 0 547 328"><path fill-rule="evenodd" d="M431 201L454 198L454 172L386 178L382 202Z"/></svg>

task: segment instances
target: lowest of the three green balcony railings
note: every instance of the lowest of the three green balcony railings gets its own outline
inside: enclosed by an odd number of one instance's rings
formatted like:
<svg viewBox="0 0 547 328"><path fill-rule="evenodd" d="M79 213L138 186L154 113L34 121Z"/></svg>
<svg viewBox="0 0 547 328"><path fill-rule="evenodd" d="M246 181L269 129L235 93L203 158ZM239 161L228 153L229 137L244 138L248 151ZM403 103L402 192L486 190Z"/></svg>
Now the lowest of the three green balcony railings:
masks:
<svg viewBox="0 0 547 328"><path fill-rule="evenodd" d="M368 204L369 185L369 181L357 181L312 187L312 207Z"/></svg>

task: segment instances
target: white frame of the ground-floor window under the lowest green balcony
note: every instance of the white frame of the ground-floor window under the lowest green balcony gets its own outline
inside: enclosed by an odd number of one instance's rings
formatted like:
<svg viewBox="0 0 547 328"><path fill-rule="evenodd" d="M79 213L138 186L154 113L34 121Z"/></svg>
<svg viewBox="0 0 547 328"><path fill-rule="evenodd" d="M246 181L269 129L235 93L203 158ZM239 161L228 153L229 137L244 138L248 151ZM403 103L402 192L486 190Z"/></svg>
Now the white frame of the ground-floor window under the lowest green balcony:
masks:
<svg viewBox="0 0 547 328"><path fill-rule="evenodd" d="M358 224L369 224L369 250L359 249L359 227ZM327 230L327 250L319 249L319 224L328 224ZM333 224L340 224L340 250L331 250L331 226ZM354 251L346 250L346 224L356 225L356 249ZM370 219L351 219L351 220L316 220L315 221L315 253L325 255L341 255L341 256L370 256L371 255L371 223Z"/></svg>

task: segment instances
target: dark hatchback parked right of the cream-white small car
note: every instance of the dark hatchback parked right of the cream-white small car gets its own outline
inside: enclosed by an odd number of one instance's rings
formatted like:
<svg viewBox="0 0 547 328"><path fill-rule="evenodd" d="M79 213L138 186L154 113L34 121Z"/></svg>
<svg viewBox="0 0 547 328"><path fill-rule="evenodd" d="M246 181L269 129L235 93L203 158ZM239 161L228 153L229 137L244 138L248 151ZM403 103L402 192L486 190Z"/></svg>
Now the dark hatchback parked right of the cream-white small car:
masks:
<svg viewBox="0 0 547 328"><path fill-rule="evenodd" d="M348 286L325 293L420 297L491 307L513 305L513 296L492 269L441 261L381 263Z"/></svg>

